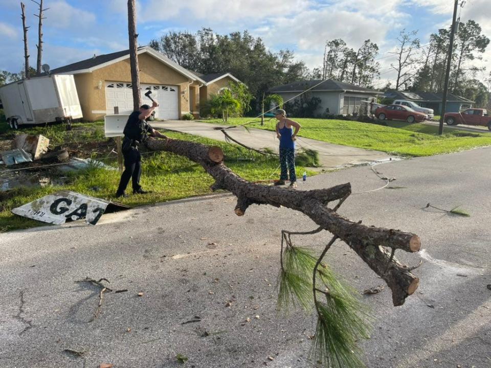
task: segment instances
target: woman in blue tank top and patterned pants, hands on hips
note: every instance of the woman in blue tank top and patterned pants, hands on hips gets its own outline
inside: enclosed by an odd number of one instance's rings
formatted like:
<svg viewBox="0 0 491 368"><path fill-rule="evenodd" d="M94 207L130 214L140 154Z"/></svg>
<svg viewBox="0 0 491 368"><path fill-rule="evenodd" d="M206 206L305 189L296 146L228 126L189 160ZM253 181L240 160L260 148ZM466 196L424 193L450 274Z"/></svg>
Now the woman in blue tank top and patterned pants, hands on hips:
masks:
<svg viewBox="0 0 491 368"><path fill-rule="evenodd" d="M276 120L276 136L280 140L280 180L275 182L275 185L284 185L285 180L288 180L288 172L290 177L290 187L297 188L297 175L295 174L295 140L301 126L299 123L286 119L286 112L283 109L275 111ZM295 132L293 128L295 127Z"/></svg>

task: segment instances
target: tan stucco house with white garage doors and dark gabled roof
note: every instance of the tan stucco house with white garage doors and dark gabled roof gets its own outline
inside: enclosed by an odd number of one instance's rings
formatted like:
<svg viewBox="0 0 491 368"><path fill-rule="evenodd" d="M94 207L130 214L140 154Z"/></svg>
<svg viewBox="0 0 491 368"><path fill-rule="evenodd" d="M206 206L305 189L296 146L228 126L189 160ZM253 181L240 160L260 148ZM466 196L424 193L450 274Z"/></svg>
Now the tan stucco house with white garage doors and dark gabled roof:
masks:
<svg viewBox="0 0 491 368"><path fill-rule="evenodd" d="M148 46L138 49L138 64L142 102L151 103L144 96L151 89L160 105L155 109L156 119L181 119L185 113L198 117L200 101L222 84L226 86L228 80L238 81L230 74L200 78ZM84 120L101 120L105 114L114 113L115 106L119 113L133 111L129 50L94 55L56 68L51 74L74 75Z"/></svg>

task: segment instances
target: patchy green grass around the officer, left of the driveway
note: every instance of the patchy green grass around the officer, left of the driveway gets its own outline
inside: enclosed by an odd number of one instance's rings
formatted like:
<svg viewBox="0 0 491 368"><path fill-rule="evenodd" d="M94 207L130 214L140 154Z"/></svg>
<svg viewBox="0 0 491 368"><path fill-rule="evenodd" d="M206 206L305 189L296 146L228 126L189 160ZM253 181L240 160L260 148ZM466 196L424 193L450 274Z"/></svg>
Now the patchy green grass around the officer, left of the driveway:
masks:
<svg viewBox="0 0 491 368"><path fill-rule="evenodd" d="M64 125L34 127L22 129L20 132L43 134L51 140L50 147L59 145L75 147L75 149L81 151L79 156L92 156L96 159L104 160L108 165L117 167L116 155L112 154L107 157L108 150L115 147L115 145L111 139L104 137L102 123L74 124L73 130L69 132L65 131ZM0 140L11 139L13 134L11 130L0 133ZM193 140L198 143L221 147L226 155L225 164L245 179L255 181L279 178L278 159L274 156L265 157L239 146L198 138L189 134L176 132L166 132L166 134L175 139ZM105 143L106 146L97 145L98 142ZM0 167L0 171L5 169L5 166ZM297 175L301 175L304 170L304 167L298 166ZM31 171L31 173L34 172ZM307 173L309 175L316 174L310 170L307 170ZM56 179L60 175L52 168L43 171L40 176L49 176L52 179ZM58 190L72 190L94 197L110 199L116 192L119 179L120 173L118 171L90 168L69 175L68 179L65 179L66 182L63 186L17 188L7 192L0 192L0 232L43 224L13 215L10 212L12 208ZM213 178L203 170L202 166L191 162L185 157L169 152L143 152L141 183L145 190L151 190L152 193L131 195L128 198L118 199L118 201L137 206L207 194L211 193L209 187L213 183ZM131 193L130 187L131 183L128 193ZM233 208L231 208L231 211L233 211Z"/></svg>

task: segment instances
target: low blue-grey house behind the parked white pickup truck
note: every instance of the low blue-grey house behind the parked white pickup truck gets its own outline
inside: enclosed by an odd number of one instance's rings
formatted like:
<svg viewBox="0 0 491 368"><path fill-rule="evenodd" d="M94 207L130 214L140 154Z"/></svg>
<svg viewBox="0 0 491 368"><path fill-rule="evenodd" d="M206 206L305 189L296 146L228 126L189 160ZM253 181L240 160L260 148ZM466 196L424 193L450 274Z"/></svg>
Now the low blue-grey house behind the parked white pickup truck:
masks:
<svg viewBox="0 0 491 368"><path fill-rule="evenodd" d="M421 107L431 108L435 111L435 115L441 115L441 102L443 100L443 94L432 92L407 92L399 91L396 89L389 89L384 94L384 98L394 100L409 100L417 103ZM447 112L459 112L466 108L471 108L474 101L467 100L461 96L455 96L449 94L447 98Z"/></svg>

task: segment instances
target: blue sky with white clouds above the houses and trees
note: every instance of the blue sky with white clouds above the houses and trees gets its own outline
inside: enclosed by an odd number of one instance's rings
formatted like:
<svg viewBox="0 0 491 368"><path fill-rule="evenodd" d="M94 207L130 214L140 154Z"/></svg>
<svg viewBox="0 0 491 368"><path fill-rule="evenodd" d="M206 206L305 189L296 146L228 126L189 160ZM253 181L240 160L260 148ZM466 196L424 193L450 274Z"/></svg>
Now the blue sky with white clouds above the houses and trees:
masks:
<svg viewBox="0 0 491 368"><path fill-rule="evenodd" d="M37 5L27 8L30 63L36 63ZM43 62L52 68L127 49L126 0L44 0ZM375 5L376 4L376 5ZM452 0L139 0L139 43L147 44L168 30L195 32L202 27L224 34L249 30L267 48L288 48L307 66L320 66L326 40L343 38L358 48L367 38L381 53L383 85L393 78L387 54L399 31L418 30L421 44L438 28L450 25ZM467 0L461 19L474 19L491 38L491 1ZM0 0L0 69L21 70L23 34L18 0ZM487 55L491 55L491 48ZM491 57L489 57L491 59ZM491 69L486 59L480 61ZM489 72L488 72L489 73Z"/></svg>

